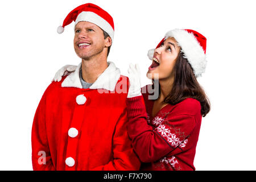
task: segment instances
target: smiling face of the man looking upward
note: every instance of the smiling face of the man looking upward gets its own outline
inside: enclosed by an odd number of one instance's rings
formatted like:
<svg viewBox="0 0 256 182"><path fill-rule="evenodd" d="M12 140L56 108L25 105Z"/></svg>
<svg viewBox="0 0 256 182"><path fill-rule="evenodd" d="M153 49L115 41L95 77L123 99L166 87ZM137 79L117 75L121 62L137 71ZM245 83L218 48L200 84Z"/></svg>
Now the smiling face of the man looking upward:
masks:
<svg viewBox="0 0 256 182"><path fill-rule="evenodd" d="M111 42L111 39L110 39ZM79 22L75 27L74 48L77 56L88 60L93 56L108 52L109 39L104 39L103 31L96 24Z"/></svg>

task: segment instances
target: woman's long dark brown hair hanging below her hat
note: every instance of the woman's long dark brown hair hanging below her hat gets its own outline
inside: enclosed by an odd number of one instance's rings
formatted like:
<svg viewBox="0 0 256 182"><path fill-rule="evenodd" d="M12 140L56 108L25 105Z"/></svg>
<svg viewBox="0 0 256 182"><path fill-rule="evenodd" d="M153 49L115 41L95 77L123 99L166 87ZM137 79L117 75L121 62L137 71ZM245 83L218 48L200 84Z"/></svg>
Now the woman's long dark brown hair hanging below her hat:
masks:
<svg viewBox="0 0 256 182"><path fill-rule="evenodd" d="M201 104L201 115L205 117L210 111L209 98L196 80L191 65L180 52L174 66L175 78L171 92L164 98L165 103L176 105L185 98L195 98ZM154 85L154 82L153 82ZM160 85L159 85L160 93ZM159 94L160 96L160 94Z"/></svg>

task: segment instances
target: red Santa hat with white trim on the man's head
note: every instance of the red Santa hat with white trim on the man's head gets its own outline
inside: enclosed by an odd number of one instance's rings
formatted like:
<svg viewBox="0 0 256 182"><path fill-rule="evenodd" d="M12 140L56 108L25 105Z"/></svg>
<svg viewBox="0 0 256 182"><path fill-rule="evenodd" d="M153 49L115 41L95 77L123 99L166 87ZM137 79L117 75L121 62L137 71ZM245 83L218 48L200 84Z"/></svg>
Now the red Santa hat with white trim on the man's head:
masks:
<svg viewBox="0 0 256 182"><path fill-rule="evenodd" d="M102 30L107 32L110 38L114 39L114 21L112 16L105 10L92 3L86 3L73 9L63 21L63 25L57 28L57 32L64 32L64 27L72 21L76 24L82 21L96 24Z"/></svg>

